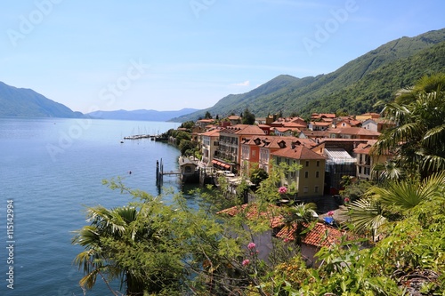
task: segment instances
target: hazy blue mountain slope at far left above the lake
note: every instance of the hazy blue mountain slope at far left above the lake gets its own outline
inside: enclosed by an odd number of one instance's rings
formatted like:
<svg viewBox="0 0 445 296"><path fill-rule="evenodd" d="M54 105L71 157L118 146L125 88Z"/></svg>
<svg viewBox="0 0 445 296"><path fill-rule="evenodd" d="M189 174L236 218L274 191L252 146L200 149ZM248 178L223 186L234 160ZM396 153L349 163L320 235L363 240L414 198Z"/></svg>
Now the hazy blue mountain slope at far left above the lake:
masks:
<svg viewBox="0 0 445 296"><path fill-rule="evenodd" d="M83 117L80 112L45 98L30 89L16 88L0 82L0 116Z"/></svg>

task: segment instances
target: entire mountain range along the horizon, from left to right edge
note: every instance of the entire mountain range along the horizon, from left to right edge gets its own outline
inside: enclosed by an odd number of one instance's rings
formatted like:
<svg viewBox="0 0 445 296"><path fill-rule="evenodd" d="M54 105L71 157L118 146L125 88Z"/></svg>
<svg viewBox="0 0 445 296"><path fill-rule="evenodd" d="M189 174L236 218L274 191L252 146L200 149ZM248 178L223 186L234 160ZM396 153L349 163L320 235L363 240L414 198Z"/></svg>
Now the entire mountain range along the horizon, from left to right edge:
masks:
<svg viewBox="0 0 445 296"><path fill-rule="evenodd" d="M333 57L335 58L335 57ZM254 90L230 94L213 107L179 111L96 111L84 115L30 89L0 82L0 116L83 117L185 122L204 117L240 114L255 116L282 112L284 116L319 113L351 115L379 111L378 100L388 102L396 92L422 76L445 71L445 28L415 37L401 37L320 76L280 75Z"/></svg>

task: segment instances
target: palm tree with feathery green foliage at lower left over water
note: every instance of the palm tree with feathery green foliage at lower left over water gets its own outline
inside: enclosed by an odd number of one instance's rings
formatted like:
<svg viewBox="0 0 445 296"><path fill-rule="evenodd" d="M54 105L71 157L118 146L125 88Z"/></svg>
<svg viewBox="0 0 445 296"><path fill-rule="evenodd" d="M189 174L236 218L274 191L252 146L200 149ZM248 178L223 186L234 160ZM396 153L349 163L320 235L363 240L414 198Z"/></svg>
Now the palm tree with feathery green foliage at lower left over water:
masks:
<svg viewBox="0 0 445 296"><path fill-rule="evenodd" d="M170 243L171 231L166 224L171 212L158 205L155 201L140 208L87 209L91 224L77 230L72 240L72 244L85 248L74 260L85 272L79 281L82 287L92 289L101 276L106 284L120 279L121 289L125 286L128 295L142 295L181 280L178 258L182 255Z"/></svg>

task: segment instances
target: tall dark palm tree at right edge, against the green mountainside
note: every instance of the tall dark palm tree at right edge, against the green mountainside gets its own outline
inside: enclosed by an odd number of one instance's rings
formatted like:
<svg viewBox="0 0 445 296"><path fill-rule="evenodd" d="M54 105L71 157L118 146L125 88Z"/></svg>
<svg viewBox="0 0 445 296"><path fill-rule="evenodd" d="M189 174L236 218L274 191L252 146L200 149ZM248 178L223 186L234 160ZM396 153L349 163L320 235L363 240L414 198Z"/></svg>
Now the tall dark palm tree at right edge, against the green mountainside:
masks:
<svg viewBox="0 0 445 296"><path fill-rule="evenodd" d="M425 179L445 169L445 75L424 77L384 106L384 117L396 126L385 130L373 147L387 152L411 176Z"/></svg>

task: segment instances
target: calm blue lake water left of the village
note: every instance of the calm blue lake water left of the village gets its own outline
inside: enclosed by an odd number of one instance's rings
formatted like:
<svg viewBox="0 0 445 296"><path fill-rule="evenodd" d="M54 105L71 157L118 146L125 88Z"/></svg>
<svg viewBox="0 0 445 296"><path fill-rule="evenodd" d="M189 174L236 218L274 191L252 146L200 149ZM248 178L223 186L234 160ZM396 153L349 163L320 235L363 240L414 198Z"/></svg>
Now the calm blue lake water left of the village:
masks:
<svg viewBox="0 0 445 296"><path fill-rule="evenodd" d="M86 225L85 205L114 207L131 200L101 180L123 177L127 187L156 196L156 161L163 159L165 171L177 170L177 148L150 139L120 140L178 125L0 117L0 295L84 295L78 285L83 273L72 265L82 249L71 244L72 231ZM177 177L165 177L164 186L181 187ZM8 200L14 206L13 237L6 231ZM12 267L13 290L7 287ZM86 292L110 294L100 279Z"/></svg>

